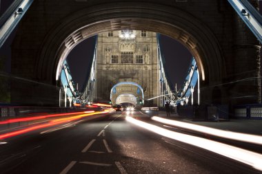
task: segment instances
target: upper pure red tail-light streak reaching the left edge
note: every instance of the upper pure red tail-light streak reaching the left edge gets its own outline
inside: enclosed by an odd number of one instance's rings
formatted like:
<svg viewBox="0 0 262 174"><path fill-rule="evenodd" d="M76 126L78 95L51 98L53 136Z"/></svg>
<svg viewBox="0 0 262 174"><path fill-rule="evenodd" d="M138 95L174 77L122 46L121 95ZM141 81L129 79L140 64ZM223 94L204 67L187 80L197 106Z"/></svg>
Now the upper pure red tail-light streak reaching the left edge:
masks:
<svg viewBox="0 0 262 174"><path fill-rule="evenodd" d="M26 121L32 121L32 120L41 120L41 119L45 119L45 118L58 117L58 116L71 116L71 115L76 115L76 114L80 114L80 113L85 113L85 112L81 111L81 112L70 112L70 113L56 113L56 114L48 114L46 116L14 118L14 119L0 121L0 124L8 124L8 123L14 123L14 122L26 122Z"/></svg>

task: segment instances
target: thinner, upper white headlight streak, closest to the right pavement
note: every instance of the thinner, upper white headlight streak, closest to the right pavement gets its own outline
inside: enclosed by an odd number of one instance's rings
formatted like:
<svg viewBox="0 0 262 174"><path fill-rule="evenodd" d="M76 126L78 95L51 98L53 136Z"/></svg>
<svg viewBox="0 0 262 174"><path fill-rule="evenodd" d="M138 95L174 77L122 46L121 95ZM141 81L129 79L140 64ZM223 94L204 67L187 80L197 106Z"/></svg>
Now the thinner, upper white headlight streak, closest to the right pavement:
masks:
<svg viewBox="0 0 262 174"><path fill-rule="evenodd" d="M203 127L203 126L199 126L196 124L190 124L187 122L179 122L176 120L168 120L165 118L160 118L160 117L152 117L152 120L155 120L157 122L162 122L164 124L169 124L169 125L173 125L176 127L183 127L186 129L190 129L193 131L199 131L202 133L207 133L210 135L215 135L215 136L219 136L222 138L228 138L231 140L238 140L238 141L242 141L242 142L250 142L250 143L254 143L254 144L262 144L262 136L259 135L250 135L247 133L237 133L237 132L232 132L232 131L223 131L223 130L219 130L219 129L214 129L214 128L210 128L210 127Z"/></svg>

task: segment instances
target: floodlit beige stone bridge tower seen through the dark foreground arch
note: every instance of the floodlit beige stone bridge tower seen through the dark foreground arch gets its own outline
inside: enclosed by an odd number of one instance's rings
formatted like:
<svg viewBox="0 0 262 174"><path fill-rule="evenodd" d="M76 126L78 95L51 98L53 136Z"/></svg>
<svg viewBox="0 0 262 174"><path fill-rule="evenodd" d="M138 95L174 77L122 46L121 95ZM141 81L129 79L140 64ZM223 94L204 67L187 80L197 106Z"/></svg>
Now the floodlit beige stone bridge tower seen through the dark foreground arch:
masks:
<svg viewBox="0 0 262 174"><path fill-rule="evenodd" d="M98 34L97 100L109 100L111 95L112 105L140 105L158 96L158 64L156 33L118 30ZM144 105L157 106L157 99Z"/></svg>

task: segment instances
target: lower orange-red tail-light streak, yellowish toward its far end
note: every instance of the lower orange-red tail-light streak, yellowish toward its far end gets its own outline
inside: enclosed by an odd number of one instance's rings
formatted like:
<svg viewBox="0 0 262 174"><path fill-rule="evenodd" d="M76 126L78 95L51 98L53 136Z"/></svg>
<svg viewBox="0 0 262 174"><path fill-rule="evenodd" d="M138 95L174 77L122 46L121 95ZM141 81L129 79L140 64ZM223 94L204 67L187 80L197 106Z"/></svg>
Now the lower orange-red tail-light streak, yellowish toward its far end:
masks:
<svg viewBox="0 0 262 174"><path fill-rule="evenodd" d="M77 119L80 119L80 118L83 118L83 117L86 117L86 116L97 115L97 114L100 114L100 113L108 113L108 112L98 111L98 112L95 112L95 113L85 113L85 114L81 114L79 116L72 116L72 117L69 117L69 118L59 118L59 119L51 120L48 123L44 123L44 124L33 126L33 127L28 127L26 129L21 129L19 131L12 131L12 132L9 132L9 133L3 133L3 134L0 135L0 140L6 139L6 138L11 138L11 137L14 137L16 135L21 135L23 133L28 133L30 131L34 131L34 130L37 130L37 129L43 129L43 128L46 128L46 127L55 126L57 124L70 122L72 120L77 120Z"/></svg>

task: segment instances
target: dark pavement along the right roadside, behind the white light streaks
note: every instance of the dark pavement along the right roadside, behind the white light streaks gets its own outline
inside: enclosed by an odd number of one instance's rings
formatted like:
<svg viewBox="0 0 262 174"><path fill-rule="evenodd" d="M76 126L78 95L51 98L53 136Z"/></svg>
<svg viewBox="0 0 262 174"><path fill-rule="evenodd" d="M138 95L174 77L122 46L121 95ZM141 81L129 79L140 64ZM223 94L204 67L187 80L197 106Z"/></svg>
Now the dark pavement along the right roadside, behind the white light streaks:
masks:
<svg viewBox="0 0 262 174"><path fill-rule="evenodd" d="M230 119L218 122L212 120L194 120L192 118L180 117L175 113L172 113L171 117L167 117L165 111L159 111L159 117L188 122L191 124L198 124L205 127L212 127L224 131L234 131L239 133L262 135L262 120Z"/></svg>

